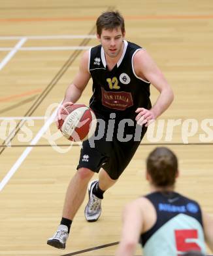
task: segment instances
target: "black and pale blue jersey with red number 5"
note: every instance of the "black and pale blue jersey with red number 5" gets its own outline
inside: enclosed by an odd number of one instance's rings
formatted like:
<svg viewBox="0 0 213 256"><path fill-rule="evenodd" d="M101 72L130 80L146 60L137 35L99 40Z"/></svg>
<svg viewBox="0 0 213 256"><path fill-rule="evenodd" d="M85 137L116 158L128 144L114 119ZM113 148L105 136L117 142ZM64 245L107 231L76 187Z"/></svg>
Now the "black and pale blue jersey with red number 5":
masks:
<svg viewBox="0 0 213 256"><path fill-rule="evenodd" d="M185 251L205 253L205 238L199 204L176 192L145 196L154 205L157 220L141 235L143 255L176 256Z"/></svg>

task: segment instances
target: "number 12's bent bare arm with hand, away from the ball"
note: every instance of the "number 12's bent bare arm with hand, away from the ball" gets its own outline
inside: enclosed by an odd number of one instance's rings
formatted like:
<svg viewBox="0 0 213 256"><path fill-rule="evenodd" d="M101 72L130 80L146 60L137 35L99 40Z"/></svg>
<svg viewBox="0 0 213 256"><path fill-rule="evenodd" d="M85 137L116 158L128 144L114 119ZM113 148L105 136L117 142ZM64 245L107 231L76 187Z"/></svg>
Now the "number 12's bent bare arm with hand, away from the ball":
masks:
<svg viewBox="0 0 213 256"><path fill-rule="evenodd" d="M174 94L161 70L159 70L147 51L138 51L134 56L133 65L135 73L142 79L150 81L159 91L156 103L150 110L146 110L146 108L138 108L136 110L136 113L139 113L136 117L137 123L148 126L152 119L156 119L169 108L174 99Z"/></svg>

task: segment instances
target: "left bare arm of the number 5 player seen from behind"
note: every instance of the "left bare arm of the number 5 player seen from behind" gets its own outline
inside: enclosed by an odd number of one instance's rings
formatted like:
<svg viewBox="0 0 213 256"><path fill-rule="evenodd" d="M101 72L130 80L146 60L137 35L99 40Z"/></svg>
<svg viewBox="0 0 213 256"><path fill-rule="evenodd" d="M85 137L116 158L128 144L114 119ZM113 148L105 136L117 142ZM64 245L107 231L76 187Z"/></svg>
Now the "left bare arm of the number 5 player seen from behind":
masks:
<svg viewBox="0 0 213 256"><path fill-rule="evenodd" d="M123 228L116 256L133 256L142 232L142 209L139 200L129 203L123 211Z"/></svg>

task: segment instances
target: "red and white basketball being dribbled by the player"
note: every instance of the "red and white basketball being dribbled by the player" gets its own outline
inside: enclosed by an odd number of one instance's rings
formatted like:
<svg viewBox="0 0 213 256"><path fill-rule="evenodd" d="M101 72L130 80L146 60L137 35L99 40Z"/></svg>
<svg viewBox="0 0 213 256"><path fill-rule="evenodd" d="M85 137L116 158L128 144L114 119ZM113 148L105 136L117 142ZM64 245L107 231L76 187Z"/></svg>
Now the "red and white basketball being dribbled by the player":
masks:
<svg viewBox="0 0 213 256"><path fill-rule="evenodd" d="M84 141L94 133L97 120L94 112L84 104L73 104L61 110L58 120L61 133L71 141Z"/></svg>

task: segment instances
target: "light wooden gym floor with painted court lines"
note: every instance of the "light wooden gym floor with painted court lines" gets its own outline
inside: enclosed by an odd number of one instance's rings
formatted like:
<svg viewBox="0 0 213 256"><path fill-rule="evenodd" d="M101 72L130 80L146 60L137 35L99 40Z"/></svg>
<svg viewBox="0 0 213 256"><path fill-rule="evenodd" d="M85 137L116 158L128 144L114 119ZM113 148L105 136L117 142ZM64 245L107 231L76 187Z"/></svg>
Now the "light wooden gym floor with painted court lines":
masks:
<svg viewBox="0 0 213 256"><path fill-rule="evenodd" d="M169 144L180 159L177 189L212 215L212 1L0 3L0 255L114 255L123 206L149 191L144 160L157 145ZM83 51L98 43L95 20L106 10L122 12L126 39L154 57L175 100L105 193L99 221L85 221L86 197L60 251L46 240L61 219L80 146L69 148L46 111L63 99ZM91 81L79 102L88 104L90 96Z"/></svg>

